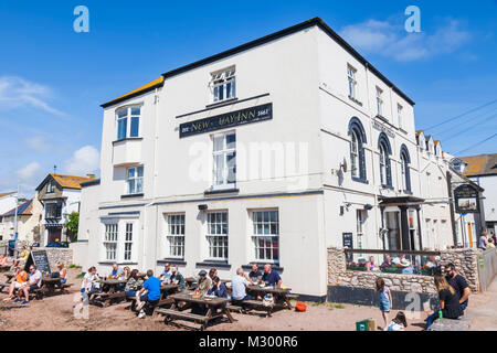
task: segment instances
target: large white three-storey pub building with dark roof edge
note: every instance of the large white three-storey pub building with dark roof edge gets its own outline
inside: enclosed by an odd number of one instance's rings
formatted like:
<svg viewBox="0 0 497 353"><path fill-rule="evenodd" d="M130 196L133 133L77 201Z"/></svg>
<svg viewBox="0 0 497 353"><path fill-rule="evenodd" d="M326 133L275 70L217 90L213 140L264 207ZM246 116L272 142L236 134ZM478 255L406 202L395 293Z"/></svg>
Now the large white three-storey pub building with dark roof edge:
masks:
<svg viewBox="0 0 497 353"><path fill-rule="evenodd" d="M320 19L167 72L103 105L75 261L269 263L322 299L328 247L430 244L413 106Z"/></svg>

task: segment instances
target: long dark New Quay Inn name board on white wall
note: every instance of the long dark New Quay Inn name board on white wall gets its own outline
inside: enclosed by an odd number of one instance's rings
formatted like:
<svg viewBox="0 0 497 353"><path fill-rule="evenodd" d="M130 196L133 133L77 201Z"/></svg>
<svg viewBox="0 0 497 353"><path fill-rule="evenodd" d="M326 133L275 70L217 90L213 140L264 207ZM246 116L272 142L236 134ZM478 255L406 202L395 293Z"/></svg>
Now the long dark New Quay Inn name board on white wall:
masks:
<svg viewBox="0 0 497 353"><path fill-rule="evenodd" d="M273 119L272 103L181 124L180 138L269 119Z"/></svg>

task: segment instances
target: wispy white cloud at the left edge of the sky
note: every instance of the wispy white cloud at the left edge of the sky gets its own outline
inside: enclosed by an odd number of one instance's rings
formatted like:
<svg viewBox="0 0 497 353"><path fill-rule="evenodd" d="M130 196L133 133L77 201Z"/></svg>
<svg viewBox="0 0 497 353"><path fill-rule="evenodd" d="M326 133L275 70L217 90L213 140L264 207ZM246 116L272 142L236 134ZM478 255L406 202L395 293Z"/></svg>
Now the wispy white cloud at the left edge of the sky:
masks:
<svg viewBox="0 0 497 353"><path fill-rule="evenodd" d="M57 116L65 116L64 113L49 105L46 99L51 95L47 86L17 76L0 76L0 106L3 108L30 106Z"/></svg>

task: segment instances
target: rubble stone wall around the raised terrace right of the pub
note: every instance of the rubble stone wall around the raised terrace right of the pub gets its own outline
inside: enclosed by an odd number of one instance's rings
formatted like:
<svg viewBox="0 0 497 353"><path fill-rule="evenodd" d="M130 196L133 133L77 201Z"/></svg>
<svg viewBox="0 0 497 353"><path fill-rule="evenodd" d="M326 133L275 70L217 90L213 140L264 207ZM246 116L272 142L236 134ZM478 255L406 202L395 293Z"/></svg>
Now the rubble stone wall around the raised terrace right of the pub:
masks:
<svg viewBox="0 0 497 353"><path fill-rule="evenodd" d="M479 290L477 254L477 249L470 248L441 252L441 264L453 263L458 272L467 279L468 286L473 291ZM328 286L374 289L378 277L383 278L391 290L436 293L432 276L347 270L345 252L342 249L328 248Z"/></svg>

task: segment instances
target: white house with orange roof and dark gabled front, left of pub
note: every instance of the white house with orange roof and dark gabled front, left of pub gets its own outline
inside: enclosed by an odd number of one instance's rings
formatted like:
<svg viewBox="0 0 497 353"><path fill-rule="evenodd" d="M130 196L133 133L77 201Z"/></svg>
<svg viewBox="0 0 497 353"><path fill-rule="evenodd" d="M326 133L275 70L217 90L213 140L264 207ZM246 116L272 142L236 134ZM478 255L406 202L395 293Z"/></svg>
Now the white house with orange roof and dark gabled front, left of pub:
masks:
<svg viewBox="0 0 497 353"><path fill-rule="evenodd" d="M81 183L94 180L87 176L62 175L51 173L36 188L36 199L43 205L41 221L41 244L52 242L72 242L72 235L64 225L68 215L80 212Z"/></svg>

